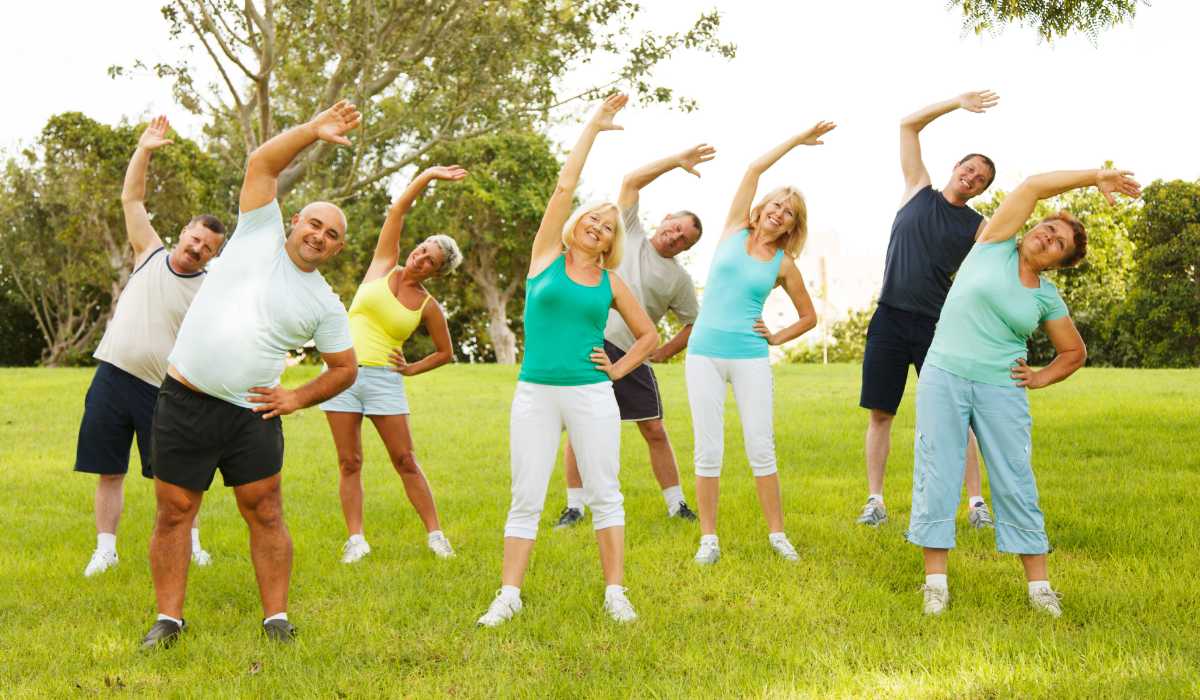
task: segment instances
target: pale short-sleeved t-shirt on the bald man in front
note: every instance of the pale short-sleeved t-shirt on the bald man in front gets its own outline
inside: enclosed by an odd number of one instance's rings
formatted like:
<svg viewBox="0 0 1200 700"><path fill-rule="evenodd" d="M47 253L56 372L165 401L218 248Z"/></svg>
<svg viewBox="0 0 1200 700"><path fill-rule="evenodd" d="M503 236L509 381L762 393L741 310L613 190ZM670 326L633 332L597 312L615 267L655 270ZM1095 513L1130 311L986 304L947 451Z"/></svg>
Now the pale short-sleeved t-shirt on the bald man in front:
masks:
<svg viewBox="0 0 1200 700"><path fill-rule="evenodd" d="M251 387L274 387L288 351L354 346L346 307L320 273L292 262L278 202L242 211L196 294L168 361L197 389L246 408Z"/></svg>

